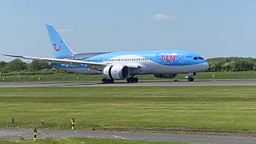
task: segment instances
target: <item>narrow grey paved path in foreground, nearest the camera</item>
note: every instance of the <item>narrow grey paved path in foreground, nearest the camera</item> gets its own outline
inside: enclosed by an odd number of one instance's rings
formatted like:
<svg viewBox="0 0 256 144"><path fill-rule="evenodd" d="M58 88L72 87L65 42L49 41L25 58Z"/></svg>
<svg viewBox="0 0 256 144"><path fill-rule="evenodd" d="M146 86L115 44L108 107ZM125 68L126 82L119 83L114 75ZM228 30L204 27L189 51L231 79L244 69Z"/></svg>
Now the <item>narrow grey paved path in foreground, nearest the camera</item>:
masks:
<svg viewBox="0 0 256 144"><path fill-rule="evenodd" d="M33 139L33 130L0 129L0 140L17 140L18 138ZM89 130L38 130L38 138L117 138L153 141L174 142L208 142L225 144L252 144L256 142L253 137L227 137L198 134L162 134L162 133L130 133L113 131Z"/></svg>

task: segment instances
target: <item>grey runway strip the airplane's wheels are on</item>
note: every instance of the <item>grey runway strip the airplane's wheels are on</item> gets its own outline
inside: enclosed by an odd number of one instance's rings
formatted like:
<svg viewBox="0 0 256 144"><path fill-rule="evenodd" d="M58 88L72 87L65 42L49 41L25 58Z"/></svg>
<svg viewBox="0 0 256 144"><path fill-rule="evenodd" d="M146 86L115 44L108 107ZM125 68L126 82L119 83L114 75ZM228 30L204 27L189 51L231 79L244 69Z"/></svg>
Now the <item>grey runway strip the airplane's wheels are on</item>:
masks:
<svg viewBox="0 0 256 144"><path fill-rule="evenodd" d="M116 82L102 83L37 83L37 82L0 82L0 87L34 87L34 86L256 86L256 80L205 81L205 82Z"/></svg>

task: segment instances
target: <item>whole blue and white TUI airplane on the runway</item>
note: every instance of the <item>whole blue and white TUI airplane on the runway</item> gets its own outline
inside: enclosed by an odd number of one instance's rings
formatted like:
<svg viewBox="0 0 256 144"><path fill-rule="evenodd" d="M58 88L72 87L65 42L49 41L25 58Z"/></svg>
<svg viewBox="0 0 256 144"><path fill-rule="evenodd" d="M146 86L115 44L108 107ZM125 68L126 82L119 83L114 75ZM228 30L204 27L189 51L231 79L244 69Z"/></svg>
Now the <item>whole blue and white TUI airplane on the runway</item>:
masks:
<svg viewBox="0 0 256 144"><path fill-rule="evenodd" d="M77 74L102 74L102 83L126 79L138 82L135 75L154 74L157 78L175 78L187 74L189 82L194 75L209 68L199 54L188 50L147 50L101 53L74 53L54 26L46 24L54 58L2 54L15 58L42 60L49 65Z"/></svg>

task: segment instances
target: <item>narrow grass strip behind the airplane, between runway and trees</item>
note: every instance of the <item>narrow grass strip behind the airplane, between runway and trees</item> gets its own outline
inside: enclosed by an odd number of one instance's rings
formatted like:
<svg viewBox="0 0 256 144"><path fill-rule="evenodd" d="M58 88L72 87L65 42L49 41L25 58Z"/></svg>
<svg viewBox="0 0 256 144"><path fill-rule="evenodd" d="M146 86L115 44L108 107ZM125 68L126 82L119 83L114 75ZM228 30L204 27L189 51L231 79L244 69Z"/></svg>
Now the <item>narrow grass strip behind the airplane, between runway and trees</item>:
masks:
<svg viewBox="0 0 256 144"><path fill-rule="evenodd" d="M7 74L8 75L8 74ZM187 81L186 74L178 74L175 78L155 78L153 75L138 75L143 81ZM222 79L256 79L256 71L222 71L198 73L195 81ZM82 74L46 74L46 75L10 75L0 74L0 82L101 82L102 75Z"/></svg>

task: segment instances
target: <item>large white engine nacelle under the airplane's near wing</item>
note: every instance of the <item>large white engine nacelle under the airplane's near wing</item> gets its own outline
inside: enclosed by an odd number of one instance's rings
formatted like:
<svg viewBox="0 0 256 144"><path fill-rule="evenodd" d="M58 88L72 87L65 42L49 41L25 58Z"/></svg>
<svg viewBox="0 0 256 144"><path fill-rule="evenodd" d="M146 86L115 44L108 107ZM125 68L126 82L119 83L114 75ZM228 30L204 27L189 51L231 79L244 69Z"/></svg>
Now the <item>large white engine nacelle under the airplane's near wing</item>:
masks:
<svg viewBox="0 0 256 144"><path fill-rule="evenodd" d="M126 79L129 75L129 67L123 65L106 66L102 71L102 76L106 79Z"/></svg>

